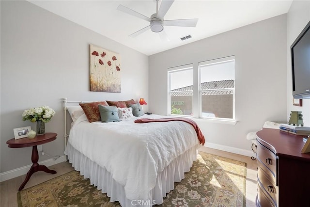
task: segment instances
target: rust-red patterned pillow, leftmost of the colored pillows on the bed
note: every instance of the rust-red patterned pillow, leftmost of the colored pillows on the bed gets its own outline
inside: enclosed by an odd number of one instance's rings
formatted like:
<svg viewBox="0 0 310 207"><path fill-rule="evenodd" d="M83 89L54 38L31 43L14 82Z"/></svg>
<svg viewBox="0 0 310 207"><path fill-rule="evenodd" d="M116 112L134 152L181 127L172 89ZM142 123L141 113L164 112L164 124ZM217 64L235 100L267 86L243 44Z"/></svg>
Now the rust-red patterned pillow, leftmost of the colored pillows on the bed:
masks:
<svg viewBox="0 0 310 207"><path fill-rule="evenodd" d="M86 114L86 117L89 122L98 122L101 121L98 105L109 106L106 101L98 101L92 103L80 103L83 111Z"/></svg>

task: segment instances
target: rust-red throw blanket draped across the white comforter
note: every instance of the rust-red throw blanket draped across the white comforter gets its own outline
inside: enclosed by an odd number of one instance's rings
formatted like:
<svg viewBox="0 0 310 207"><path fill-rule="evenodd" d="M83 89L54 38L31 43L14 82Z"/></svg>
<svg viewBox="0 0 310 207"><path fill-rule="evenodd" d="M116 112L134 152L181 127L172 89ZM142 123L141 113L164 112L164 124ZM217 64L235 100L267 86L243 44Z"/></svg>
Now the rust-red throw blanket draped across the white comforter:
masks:
<svg viewBox="0 0 310 207"><path fill-rule="evenodd" d="M198 127L196 122L194 122L193 120L188 119L188 118L178 117L178 118L162 118L162 119L137 119L135 121L135 123L170 122L170 121L182 121L182 122L186 122L186 123L190 124L191 126L193 126L196 133L197 133L199 143L201 143L202 145L204 144L205 140L204 140L204 136L202 134L202 131L200 130L200 128Z"/></svg>

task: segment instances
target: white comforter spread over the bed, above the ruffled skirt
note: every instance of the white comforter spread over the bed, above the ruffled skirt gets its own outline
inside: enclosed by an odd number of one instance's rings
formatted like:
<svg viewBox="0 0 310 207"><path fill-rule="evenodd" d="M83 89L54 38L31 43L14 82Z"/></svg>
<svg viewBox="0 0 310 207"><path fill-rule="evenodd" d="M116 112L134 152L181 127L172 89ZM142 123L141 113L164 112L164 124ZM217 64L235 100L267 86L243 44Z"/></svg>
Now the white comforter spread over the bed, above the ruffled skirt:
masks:
<svg viewBox="0 0 310 207"><path fill-rule="evenodd" d="M89 123L83 114L71 128L68 142L109 171L124 186L127 199L147 199L157 173L199 144L194 128L182 121L134 123L139 118L163 117L153 114Z"/></svg>

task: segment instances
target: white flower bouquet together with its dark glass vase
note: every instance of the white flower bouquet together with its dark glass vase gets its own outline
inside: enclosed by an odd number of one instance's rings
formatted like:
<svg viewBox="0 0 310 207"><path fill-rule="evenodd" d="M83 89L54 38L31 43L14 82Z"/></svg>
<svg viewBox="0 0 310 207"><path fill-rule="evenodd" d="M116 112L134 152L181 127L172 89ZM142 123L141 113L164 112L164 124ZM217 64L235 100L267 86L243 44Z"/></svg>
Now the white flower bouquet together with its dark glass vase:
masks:
<svg viewBox="0 0 310 207"><path fill-rule="evenodd" d="M55 111L48 106L40 106L27 109L23 112L23 121L37 122L37 135L45 134L45 123L55 115Z"/></svg>

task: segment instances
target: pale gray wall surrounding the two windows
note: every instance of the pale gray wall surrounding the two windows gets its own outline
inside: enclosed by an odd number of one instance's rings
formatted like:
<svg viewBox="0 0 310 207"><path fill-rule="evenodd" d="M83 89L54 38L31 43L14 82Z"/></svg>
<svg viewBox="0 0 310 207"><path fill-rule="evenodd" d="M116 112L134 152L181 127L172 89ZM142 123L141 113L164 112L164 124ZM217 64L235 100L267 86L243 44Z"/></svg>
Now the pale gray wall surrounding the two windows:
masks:
<svg viewBox="0 0 310 207"><path fill-rule="evenodd" d="M205 135L206 146L250 152L248 132L259 130L265 121L286 120L286 18L286 14L276 16L151 55L150 111L167 114L167 68L193 64L197 70L199 62L234 55L238 123L195 121ZM194 81L198 81L198 72L194 72Z"/></svg>

